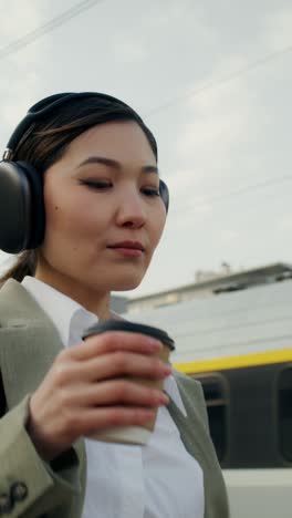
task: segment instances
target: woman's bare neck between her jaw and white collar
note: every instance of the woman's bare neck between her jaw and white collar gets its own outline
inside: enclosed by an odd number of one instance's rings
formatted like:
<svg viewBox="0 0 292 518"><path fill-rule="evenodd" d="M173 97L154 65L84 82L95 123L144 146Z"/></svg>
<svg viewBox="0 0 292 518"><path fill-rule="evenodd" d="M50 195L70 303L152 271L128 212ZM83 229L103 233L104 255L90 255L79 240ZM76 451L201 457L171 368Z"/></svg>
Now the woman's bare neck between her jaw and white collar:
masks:
<svg viewBox="0 0 292 518"><path fill-rule="evenodd" d="M75 300L87 311L96 314L100 320L108 320L112 318L109 292L98 292L81 282L76 282L75 279L71 279L63 273L39 266L36 267L34 277Z"/></svg>

